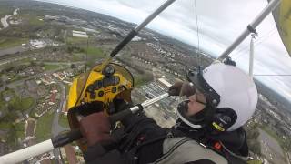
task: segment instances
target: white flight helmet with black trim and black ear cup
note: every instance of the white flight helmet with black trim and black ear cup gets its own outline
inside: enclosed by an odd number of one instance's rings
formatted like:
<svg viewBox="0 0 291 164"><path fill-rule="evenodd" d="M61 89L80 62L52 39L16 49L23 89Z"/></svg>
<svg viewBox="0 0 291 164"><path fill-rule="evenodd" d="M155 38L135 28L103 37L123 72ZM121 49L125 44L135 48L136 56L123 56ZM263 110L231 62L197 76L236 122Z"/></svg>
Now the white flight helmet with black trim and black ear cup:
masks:
<svg viewBox="0 0 291 164"><path fill-rule="evenodd" d="M186 110L178 108L179 118L190 127L232 131L243 126L255 112L256 85L239 68L216 63L203 70L189 71L186 77L204 93L207 101L203 114L198 113L198 119L187 117Z"/></svg>

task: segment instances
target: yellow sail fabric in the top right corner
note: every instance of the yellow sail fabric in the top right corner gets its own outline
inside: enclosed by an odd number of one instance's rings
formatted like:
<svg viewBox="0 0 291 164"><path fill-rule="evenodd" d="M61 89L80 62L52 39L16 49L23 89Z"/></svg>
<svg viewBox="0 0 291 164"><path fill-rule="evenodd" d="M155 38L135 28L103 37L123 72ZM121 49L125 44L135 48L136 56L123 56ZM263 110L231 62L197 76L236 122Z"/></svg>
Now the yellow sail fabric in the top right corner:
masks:
<svg viewBox="0 0 291 164"><path fill-rule="evenodd" d="M281 0L281 4L273 11L273 15L281 39L291 56L291 1Z"/></svg>

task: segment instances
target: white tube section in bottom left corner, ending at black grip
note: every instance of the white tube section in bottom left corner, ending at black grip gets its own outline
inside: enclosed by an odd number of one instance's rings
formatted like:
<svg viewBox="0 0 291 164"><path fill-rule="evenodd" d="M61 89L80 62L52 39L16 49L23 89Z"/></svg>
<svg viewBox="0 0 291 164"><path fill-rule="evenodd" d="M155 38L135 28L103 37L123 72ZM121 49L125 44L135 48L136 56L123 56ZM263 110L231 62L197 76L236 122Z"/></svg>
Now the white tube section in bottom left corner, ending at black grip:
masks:
<svg viewBox="0 0 291 164"><path fill-rule="evenodd" d="M54 149L53 142L51 139L48 139L34 146L25 149L19 149L15 152L1 156L0 163L1 164L18 163L24 161L25 159L29 159L44 154L45 152L51 151L53 149Z"/></svg>

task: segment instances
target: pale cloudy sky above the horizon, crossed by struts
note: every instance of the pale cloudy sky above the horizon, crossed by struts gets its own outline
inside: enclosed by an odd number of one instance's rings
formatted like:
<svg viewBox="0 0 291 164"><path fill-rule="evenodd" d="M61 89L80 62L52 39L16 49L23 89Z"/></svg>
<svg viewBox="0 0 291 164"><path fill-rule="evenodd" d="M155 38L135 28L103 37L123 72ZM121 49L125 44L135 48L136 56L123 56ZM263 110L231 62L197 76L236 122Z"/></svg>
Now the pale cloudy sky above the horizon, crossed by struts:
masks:
<svg viewBox="0 0 291 164"><path fill-rule="evenodd" d="M74 6L139 24L166 0L39 0ZM267 5L267 0L176 0L146 27L220 56ZM197 15L196 15L197 14ZM197 17L197 19L196 19ZM197 39L197 31L199 39ZM256 27L255 78L291 99L291 57L276 30L273 16ZM230 56L248 72L250 36Z"/></svg>

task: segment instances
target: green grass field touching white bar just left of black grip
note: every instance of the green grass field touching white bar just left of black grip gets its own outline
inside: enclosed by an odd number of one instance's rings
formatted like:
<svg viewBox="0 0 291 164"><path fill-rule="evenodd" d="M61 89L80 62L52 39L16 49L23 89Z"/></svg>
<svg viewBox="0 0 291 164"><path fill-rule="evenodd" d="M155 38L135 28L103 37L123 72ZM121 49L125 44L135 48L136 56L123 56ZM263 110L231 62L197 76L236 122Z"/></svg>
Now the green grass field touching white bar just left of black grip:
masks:
<svg viewBox="0 0 291 164"><path fill-rule="evenodd" d="M35 139L36 142L44 141L45 139L51 138L52 122L54 113L45 113L44 116L37 119Z"/></svg>

